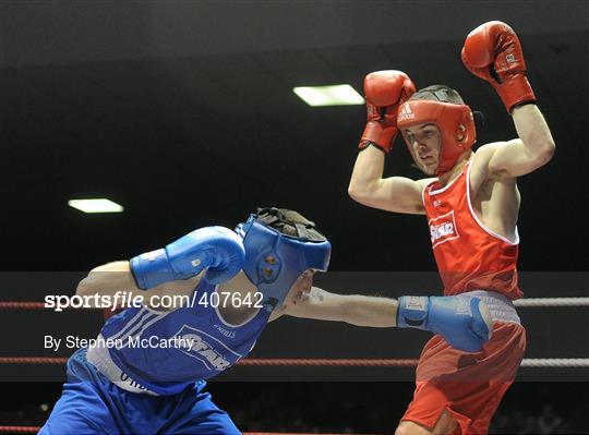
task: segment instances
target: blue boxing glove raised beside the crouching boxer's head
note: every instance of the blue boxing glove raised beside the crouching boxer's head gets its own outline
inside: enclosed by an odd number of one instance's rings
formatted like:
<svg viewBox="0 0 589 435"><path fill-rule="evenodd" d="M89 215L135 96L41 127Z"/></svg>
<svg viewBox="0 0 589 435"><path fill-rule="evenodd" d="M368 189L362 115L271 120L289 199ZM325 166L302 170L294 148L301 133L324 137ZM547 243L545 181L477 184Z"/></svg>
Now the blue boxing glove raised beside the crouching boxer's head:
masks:
<svg viewBox="0 0 589 435"><path fill-rule="evenodd" d="M205 279L219 283L236 276L243 265L242 239L225 227L192 231L160 250L131 258L131 271L143 290L187 279L208 267Z"/></svg>

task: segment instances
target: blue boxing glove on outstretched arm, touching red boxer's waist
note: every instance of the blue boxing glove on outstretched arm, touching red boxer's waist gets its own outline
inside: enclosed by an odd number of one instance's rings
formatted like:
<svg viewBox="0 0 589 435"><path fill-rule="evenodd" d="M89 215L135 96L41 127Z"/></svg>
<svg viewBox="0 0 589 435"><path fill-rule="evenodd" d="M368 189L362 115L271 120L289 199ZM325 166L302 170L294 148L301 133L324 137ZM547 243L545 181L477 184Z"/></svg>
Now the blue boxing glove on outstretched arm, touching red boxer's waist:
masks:
<svg viewBox="0 0 589 435"><path fill-rule="evenodd" d="M438 334L453 347L478 352L493 334L484 302L472 297L401 297L397 326Z"/></svg>

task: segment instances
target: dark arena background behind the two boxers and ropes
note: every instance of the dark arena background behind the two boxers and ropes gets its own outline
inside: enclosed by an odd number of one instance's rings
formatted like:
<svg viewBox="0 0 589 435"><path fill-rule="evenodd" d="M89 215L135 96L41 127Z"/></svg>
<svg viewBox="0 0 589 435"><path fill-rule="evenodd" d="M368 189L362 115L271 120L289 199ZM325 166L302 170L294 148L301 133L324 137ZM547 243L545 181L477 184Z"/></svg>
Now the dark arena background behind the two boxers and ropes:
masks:
<svg viewBox="0 0 589 435"><path fill-rule="evenodd" d="M64 379L61 360L14 359L67 358L73 350L45 349L44 336L92 338L104 323L96 310L5 302L71 295L97 265L196 228L233 228L257 206L300 210L329 238L330 271L318 287L440 294L425 219L348 196L364 106L311 107L292 88L349 84L362 94L369 72L402 70L418 87L447 84L483 111L479 145L509 140L517 134L500 98L459 56L472 28L501 20L522 43L556 143L546 166L518 180L521 288L526 298L564 299L518 307L531 365L491 433L589 433L588 4L1 1L2 430L43 425ZM400 138L385 174L421 177ZM96 197L124 212L68 205ZM430 337L288 317L249 358L406 361ZM413 380L410 363L238 365L208 390L244 432L390 434Z"/></svg>

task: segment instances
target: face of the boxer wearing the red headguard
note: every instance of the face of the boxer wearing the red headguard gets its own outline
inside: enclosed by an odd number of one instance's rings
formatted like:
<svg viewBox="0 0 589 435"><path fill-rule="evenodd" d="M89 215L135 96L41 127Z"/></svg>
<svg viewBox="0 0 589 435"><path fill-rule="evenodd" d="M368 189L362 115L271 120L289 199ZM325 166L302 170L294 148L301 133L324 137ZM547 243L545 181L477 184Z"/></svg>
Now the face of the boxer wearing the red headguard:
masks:
<svg viewBox="0 0 589 435"><path fill-rule="evenodd" d="M435 173L440 157L440 129L432 123L423 123L404 129L402 135L411 144L413 158L426 174Z"/></svg>

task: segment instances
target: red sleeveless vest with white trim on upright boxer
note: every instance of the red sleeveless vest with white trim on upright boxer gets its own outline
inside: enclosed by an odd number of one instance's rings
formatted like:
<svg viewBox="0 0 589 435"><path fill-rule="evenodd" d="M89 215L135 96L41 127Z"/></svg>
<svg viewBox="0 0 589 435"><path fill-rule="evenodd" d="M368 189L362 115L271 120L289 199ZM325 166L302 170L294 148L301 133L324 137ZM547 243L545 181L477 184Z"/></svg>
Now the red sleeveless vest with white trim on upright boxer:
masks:
<svg viewBox="0 0 589 435"><path fill-rule="evenodd" d="M423 190L423 205L432 239L432 249L444 282L444 294L491 290L512 300L524 295L517 283L516 240L484 227L470 203L468 180L470 162L446 186L437 181Z"/></svg>

